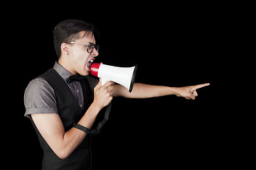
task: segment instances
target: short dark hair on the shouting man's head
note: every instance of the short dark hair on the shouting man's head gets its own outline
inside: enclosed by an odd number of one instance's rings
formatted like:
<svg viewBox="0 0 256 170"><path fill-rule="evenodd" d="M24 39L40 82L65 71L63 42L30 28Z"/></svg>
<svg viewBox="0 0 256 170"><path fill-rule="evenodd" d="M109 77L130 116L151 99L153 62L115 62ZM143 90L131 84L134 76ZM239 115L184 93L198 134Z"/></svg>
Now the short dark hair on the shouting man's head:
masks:
<svg viewBox="0 0 256 170"><path fill-rule="evenodd" d="M85 21L68 19L55 26L53 29L53 38L54 48L58 58L60 58L61 55L60 45L63 42L74 41L81 38L79 34L80 31L86 31L86 33L89 31L92 35L95 35L95 33L97 35L95 27L91 23L86 23Z"/></svg>

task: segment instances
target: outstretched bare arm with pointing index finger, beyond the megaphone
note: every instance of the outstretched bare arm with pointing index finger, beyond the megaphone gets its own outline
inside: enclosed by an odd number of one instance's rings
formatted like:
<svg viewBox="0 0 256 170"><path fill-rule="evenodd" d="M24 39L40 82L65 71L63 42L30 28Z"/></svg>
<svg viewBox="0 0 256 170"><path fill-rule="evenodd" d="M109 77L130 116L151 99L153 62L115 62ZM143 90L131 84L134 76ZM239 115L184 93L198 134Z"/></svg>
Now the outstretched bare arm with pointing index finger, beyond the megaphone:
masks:
<svg viewBox="0 0 256 170"><path fill-rule="evenodd" d="M210 84L199 84L196 86L184 86L184 87L169 87L169 86L154 86L149 84L134 84L132 93L129 93L124 86L118 84L112 85L113 96L123 96L125 98L151 98L158 96L176 95L185 97L187 99L195 99L198 96L196 89L200 89L203 86Z"/></svg>

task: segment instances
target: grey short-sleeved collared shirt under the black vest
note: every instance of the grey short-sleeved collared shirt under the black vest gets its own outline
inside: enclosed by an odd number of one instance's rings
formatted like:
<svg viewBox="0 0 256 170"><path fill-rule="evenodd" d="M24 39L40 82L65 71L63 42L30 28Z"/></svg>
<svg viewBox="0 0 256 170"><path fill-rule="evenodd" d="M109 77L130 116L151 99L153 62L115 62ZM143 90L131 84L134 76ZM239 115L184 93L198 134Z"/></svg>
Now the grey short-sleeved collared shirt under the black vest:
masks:
<svg viewBox="0 0 256 170"><path fill-rule="evenodd" d="M65 81L70 77L71 74L65 69L63 66L55 62L53 69L55 69L60 77L62 77ZM90 84L90 90L94 91L95 86L98 83L98 79L92 77L86 77ZM68 83L67 83L68 84ZM68 84L70 90L78 101L79 106L84 108L84 99L82 96L82 87L79 81L73 81ZM57 113L58 107L55 100L55 94L53 88L48 84L48 82L38 77L29 82L26 87L24 94L24 105L26 108L26 113L24 116L31 118L31 114L35 113Z"/></svg>

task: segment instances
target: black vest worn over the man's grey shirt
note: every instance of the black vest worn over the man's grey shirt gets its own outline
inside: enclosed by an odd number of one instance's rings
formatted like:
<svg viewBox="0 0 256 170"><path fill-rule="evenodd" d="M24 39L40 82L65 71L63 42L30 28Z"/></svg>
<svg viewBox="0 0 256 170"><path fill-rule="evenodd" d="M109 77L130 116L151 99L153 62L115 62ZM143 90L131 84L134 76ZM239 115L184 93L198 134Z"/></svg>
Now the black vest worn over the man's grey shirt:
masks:
<svg viewBox="0 0 256 170"><path fill-rule="evenodd" d="M48 84L53 88L55 93L55 99L58 106L58 115L63 122L65 132L73 128L74 123L78 121L85 114L85 111L92 103L92 94L90 93L89 83L87 79L80 81L82 86L82 92L85 101L84 111L81 110L78 102L75 100L75 96L70 91L68 84L62 77L55 71L55 69L49 69L48 72L41 76ZM90 153L90 135L86 135L81 144L73 151L67 159L60 159L52 149L50 149L46 140L43 139L40 132L33 123L41 147L43 148L43 170L89 170L91 169L91 153Z"/></svg>

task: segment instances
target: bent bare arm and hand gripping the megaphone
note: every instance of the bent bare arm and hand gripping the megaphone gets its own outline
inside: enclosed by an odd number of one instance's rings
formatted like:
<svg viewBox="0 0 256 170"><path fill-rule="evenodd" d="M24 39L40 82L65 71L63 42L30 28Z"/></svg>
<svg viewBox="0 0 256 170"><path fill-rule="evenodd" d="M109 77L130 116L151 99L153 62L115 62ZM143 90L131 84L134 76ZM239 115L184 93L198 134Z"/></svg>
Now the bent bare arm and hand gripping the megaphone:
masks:
<svg viewBox="0 0 256 170"><path fill-rule="evenodd" d="M78 124L89 129L92 127L97 114L112 100L112 84L111 81L108 81L101 86L101 80L99 81L95 87L94 101ZM38 113L32 114L31 117L50 148L61 159L67 158L87 135L86 132L77 128L71 128L65 132L60 116L55 113Z"/></svg>

